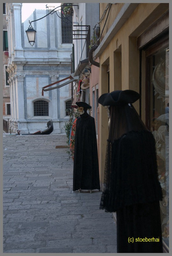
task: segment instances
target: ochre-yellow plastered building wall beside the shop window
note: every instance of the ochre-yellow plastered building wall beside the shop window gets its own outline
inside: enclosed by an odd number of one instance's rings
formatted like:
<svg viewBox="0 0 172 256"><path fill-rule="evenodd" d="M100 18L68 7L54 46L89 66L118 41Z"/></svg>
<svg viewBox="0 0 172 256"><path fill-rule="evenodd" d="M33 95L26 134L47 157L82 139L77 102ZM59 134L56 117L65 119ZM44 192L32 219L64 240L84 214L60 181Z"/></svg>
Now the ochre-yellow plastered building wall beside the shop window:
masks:
<svg viewBox="0 0 172 256"><path fill-rule="evenodd" d="M100 4L100 18L107 4ZM117 14L124 4L111 6L110 18L105 26L102 40L108 32ZM97 55L100 58L99 96L108 92L107 65L109 64L109 88L113 90L131 89L139 92L139 50L137 50L137 37L153 24L164 12L168 4L148 3L139 4L120 30L104 49ZM105 20L105 19L104 19ZM104 22L101 22L101 29ZM145 121L145 56L142 54L142 119ZM134 103L139 111L139 101ZM106 156L106 141L108 138L108 116L106 109L100 105L100 179L103 183Z"/></svg>

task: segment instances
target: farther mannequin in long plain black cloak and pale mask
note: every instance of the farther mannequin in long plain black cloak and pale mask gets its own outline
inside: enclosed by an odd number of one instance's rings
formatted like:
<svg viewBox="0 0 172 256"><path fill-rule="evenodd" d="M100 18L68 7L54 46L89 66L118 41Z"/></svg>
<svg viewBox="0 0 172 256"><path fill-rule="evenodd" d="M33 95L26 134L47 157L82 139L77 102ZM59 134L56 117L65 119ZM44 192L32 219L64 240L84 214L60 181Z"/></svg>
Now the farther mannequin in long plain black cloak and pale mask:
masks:
<svg viewBox="0 0 172 256"><path fill-rule="evenodd" d="M80 117L76 121L73 191L100 190L95 120L87 113L91 106L76 102Z"/></svg>

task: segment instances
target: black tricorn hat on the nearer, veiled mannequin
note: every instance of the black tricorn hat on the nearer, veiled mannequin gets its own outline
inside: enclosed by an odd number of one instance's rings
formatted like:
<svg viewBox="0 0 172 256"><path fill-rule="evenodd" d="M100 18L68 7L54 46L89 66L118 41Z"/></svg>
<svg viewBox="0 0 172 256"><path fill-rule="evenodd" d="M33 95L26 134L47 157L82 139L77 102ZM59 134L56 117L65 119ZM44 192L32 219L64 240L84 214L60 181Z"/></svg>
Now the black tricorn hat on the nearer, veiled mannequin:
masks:
<svg viewBox="0 0 172 256"><path fill-rule="evenodd" d="M98 102L103 106L121 106L127 103L133 103L140 97L141 95L133 90L116 90L102 94Z"/></svg>

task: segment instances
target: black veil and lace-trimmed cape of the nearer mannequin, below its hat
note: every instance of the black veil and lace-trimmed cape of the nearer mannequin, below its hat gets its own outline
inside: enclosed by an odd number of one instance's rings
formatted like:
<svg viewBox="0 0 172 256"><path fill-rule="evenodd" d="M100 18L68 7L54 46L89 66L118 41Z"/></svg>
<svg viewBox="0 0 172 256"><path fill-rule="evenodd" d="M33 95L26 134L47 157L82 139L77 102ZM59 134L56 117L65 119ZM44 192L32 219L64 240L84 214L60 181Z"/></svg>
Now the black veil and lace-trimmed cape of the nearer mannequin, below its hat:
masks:
<svg viewBox="0 0 172 256"><path fill-rule="evenodd" d="M155 141L131 103L109 106L104 188L100 208L109 212L161 200Z"/></svg>

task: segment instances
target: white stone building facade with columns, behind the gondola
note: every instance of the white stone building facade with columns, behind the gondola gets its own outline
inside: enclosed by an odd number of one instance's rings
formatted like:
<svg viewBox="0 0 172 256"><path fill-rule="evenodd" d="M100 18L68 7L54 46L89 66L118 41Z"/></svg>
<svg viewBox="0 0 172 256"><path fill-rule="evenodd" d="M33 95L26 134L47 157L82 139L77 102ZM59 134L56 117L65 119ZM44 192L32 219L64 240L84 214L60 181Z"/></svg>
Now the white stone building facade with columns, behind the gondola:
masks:
<svg viewBox="0 0 172 256"><path fill-rule="evenodd" d="M68 120L66 102L70 104L71 84L44 92L42 96L43 86L71 74L72 43L63 43L61 18L56 14L47 15L48 12L35 10L22 23L22 4L6 4L12 132L17 129L20 133L45 130L47 122L52 119L53 133L57 134L64 132ZM25 33L29 20L45 15L31 24L37 31L35 44L31 46Z"/></svg>

